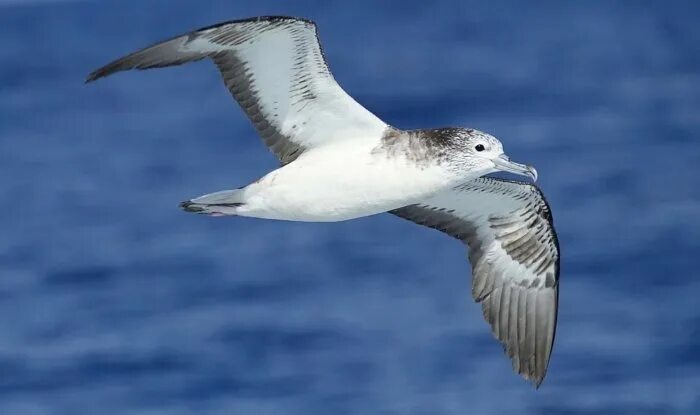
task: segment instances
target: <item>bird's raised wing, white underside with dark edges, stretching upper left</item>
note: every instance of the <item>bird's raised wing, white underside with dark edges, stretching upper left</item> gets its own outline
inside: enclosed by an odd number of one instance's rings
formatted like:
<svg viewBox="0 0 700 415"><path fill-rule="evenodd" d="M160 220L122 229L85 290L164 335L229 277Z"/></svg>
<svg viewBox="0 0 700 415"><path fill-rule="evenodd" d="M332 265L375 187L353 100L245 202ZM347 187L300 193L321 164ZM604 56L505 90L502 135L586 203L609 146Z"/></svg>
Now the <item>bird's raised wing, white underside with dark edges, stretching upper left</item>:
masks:
<svg viewBox="0 0 700 415"><path fill-rule="evenodd" d="M329 140L381 136L387 125L333 78L316 25L257 17L205 27L134 52L92 72L86 82L128 69L211 58L226 87L283 164Z"/></svg>

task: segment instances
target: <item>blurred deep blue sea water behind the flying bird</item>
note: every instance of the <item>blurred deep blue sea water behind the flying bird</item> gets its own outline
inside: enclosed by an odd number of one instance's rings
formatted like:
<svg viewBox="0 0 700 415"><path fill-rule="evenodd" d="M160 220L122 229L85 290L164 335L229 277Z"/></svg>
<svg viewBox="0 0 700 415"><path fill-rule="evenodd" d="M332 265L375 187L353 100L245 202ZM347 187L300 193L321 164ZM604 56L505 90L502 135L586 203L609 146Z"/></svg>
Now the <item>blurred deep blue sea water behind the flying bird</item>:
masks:
<svg viewBox="0 0 700 415"><path fill-rule="evenodd" d="M390 215L178 202L276 167L210 63L91 70L200 26L317 21L402 128L537 166L562 250L535 391L464 248ZM0 413L700 413L700 3L0 0Z"/></svg>

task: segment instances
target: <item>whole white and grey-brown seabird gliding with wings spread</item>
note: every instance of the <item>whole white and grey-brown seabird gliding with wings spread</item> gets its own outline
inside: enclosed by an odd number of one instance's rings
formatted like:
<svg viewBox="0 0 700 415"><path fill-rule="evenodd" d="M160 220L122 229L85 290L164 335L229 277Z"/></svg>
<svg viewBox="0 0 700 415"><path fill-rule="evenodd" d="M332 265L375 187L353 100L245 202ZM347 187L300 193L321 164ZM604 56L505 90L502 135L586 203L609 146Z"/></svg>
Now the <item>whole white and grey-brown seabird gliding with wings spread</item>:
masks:
<svg viewBox="0 0 700 415"><path fill-rule="evenodd" d="M128 54L86 83L209 59L280 166L247 186L188 199L210 216L336 222L388 212L468 249L472 296L513 370L538 388L554 343L559 243L534 167L471 128L402 130L337 83L317 25L260 16L203 27ZM490 175L508 172L532 180Z"/></svg>

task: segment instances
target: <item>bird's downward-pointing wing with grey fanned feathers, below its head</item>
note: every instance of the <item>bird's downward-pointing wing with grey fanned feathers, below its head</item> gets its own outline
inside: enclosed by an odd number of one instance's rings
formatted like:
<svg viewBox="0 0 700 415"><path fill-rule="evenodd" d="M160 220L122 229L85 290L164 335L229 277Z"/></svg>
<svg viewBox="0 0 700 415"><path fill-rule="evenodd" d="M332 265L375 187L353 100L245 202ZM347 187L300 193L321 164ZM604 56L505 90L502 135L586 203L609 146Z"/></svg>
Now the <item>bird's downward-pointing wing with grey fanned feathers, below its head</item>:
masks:
<svg viewBox="0 0 700 415"><path fill-rule="evenodd" d="M539 386L554 342L559 292L559 244L541 191L482 177L391 213L469 246L472 296L513 369Z"/></svg>

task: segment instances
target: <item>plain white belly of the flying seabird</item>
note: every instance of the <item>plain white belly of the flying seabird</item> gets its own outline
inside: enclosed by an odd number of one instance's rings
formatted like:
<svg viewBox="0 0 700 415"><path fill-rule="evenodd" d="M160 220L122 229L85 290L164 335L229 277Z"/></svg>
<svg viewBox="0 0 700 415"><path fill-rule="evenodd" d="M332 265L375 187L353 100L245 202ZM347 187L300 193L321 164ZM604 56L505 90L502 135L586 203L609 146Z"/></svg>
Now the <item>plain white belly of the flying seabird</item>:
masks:
<svg viewBox="0 0 700 415"><path fill-rule="evenodd" d="M252 185L240 214L335 222L417 203L450 185L442 170L421 169L401 160L367 157L361 163L311 161L297 166L292 163Z"/></svg>

